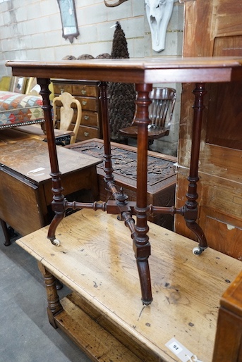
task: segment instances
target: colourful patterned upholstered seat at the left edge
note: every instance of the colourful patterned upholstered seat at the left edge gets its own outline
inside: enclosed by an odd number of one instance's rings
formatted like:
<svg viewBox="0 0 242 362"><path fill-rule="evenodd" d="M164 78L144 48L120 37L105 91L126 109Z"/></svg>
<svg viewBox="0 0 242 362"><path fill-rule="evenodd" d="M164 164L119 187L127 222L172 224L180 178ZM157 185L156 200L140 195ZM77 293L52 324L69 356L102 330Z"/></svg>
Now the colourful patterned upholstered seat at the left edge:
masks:
<svg viewBox="0 0 242 362"><path fill-rule="evenodd" d="M0 130L43 122L41 96L0 91Z"/></svg>

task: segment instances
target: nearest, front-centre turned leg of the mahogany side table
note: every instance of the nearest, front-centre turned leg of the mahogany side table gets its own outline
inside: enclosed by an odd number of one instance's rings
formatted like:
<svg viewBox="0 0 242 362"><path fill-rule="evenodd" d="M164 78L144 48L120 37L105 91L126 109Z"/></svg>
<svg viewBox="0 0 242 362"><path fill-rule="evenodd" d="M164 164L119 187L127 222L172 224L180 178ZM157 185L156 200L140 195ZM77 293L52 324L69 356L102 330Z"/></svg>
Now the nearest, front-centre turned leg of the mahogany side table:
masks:
<svg viewBox="0 0 242 362"><path fill-rule="evenodd" d="M150 256L150 242L147 232L147 125L150 123L148 107L150 105L149 93L152 85L140 84L135 86L138 92L136 103L135 123L138 125L138 149L137 149L137 202L135 206L136 225L133 237L133 250L140 276L140 286L143 304L152 302L150 282L150 268L148 258Z"/></svg>

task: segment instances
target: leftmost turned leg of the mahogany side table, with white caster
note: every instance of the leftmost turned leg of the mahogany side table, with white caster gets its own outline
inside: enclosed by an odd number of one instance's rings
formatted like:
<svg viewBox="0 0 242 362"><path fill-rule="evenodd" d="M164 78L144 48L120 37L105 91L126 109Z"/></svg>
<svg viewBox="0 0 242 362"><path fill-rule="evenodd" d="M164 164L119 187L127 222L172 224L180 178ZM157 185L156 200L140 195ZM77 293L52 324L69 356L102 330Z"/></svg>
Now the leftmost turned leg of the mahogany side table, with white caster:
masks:
<svg viewBox="0 0 242 362"><path fill-rule="evenodd" d="M59 245L59 241L55 237L56 227L59 225L63 217L65 216L66 208L64 206L65 198L62 194L63 187L61 186L61 172L59 171L59 163L57 158L56 151L56 142L54 139L54 125L52 120L52 105L49 101L49 79L37 78L37 82L41 87L40 94L43 99L43 111L45 118L45 125L47 130L47 144L49 149L49 161L52 172L52 192L53 192L53 201L52 209L55 213L55 216L52 220L52 223L49 226L48 239L51 240L52 244Z"/></svg>

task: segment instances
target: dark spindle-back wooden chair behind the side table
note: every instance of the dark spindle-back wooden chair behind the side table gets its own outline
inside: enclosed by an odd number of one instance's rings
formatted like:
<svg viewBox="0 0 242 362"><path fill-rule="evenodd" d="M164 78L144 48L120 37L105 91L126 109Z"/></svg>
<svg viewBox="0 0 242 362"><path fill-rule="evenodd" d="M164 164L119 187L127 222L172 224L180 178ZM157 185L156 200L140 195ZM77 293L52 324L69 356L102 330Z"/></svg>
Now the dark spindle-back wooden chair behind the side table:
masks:
<svg viewBox="0 0 242 362"><path fill-rule="evenodd" d="M150 125L148 125L148 139L154 140L169 135L171 118L176 102L176 89L153 88L149 94L152 103L149 107ZM119 130L126 137L137 137L138 127L135 123Z"/></svg>

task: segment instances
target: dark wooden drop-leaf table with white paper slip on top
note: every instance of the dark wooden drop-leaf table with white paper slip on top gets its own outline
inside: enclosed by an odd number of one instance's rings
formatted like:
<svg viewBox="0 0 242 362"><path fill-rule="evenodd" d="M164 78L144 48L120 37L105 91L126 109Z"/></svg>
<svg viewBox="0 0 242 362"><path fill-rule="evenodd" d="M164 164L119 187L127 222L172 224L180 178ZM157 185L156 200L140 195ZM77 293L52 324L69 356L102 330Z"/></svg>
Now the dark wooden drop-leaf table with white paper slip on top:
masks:
<svg viewBox="0 0 242 362"><path fill-rule="evenodd" d="M97 158L80 156L61 146L58 146L57 153L64 195L68 195L69 200L73 194L80 201L96 200ZM22 142L6 142L1 146L0 160L1 220L20 235L27 235L50 223L53 195L47 143L31 136Z"/></svg>

